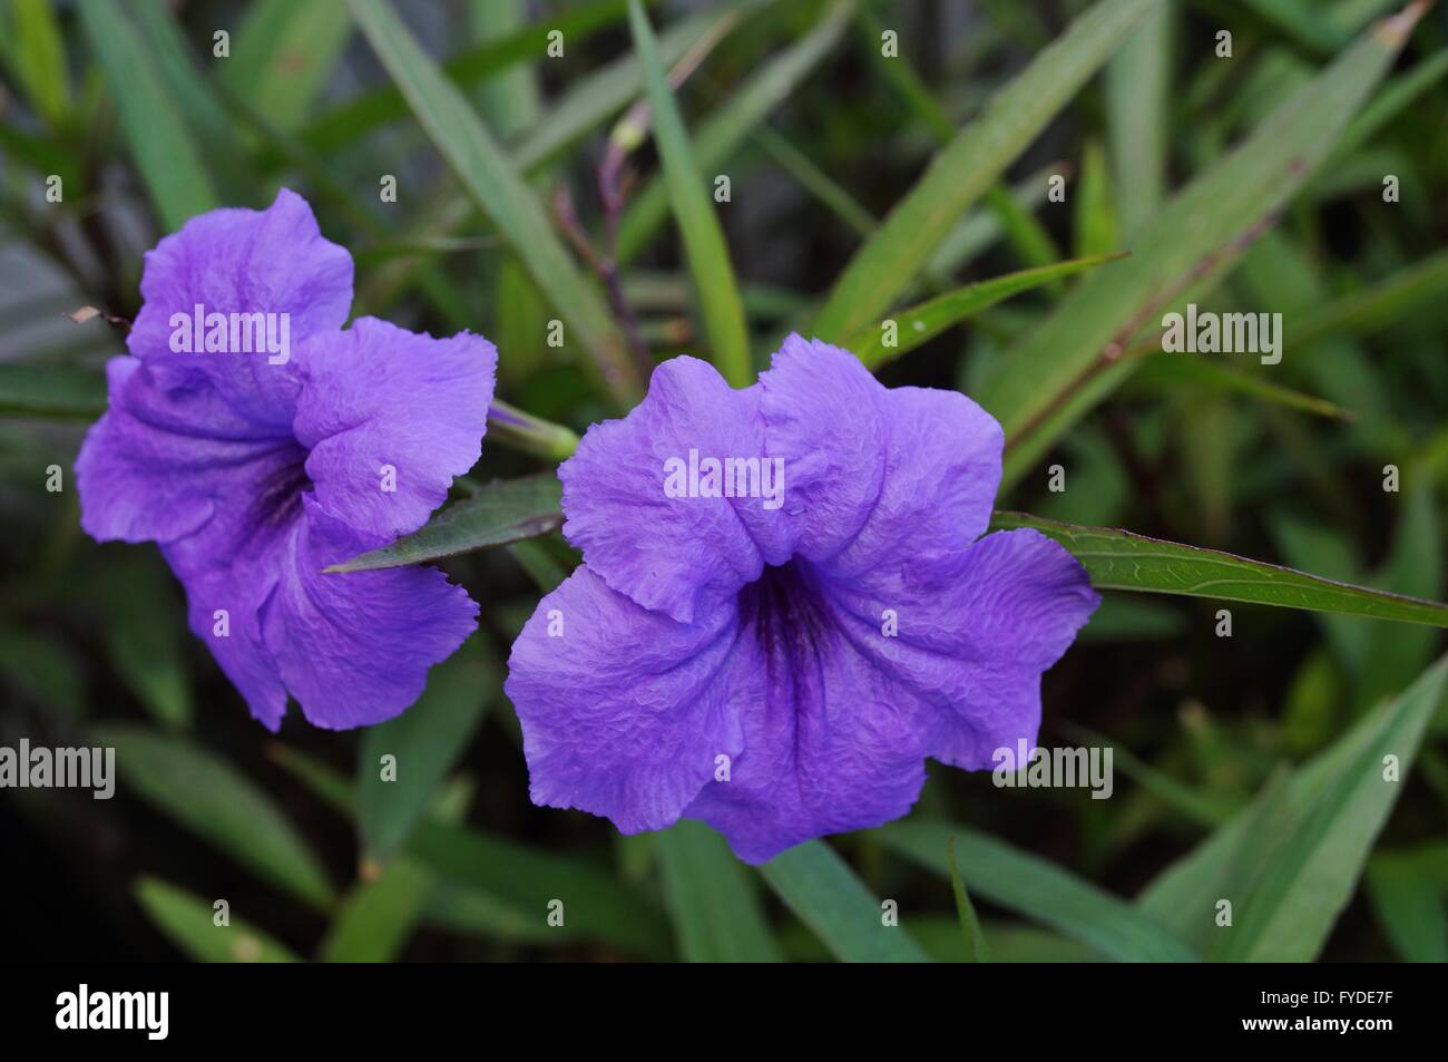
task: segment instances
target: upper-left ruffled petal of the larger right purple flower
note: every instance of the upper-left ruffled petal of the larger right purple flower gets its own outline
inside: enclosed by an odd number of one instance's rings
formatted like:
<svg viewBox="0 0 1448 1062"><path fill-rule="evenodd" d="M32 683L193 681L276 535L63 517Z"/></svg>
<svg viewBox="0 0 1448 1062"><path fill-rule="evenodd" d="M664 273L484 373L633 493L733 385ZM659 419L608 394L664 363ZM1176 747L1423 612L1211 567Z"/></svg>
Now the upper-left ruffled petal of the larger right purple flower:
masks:
<svg viewBox="0 0 1448 1062"><path fill-rule="evenodd" d="M766 507L762 497L766 449L757 403L757 387L736 391L711 365L673 358L654 369L649 396L627 417L588 430L559 469L563 533L610 587L689 622L711 595L730 595L766 564L789 556L783 510ZM723 497L720 478L721 496L670 497L678 494L670 471L676 487L683 469L685 494L694 494L688 469L710 458L754 459L757 496ZM746 493L752 485L746 475Z"/></svg>

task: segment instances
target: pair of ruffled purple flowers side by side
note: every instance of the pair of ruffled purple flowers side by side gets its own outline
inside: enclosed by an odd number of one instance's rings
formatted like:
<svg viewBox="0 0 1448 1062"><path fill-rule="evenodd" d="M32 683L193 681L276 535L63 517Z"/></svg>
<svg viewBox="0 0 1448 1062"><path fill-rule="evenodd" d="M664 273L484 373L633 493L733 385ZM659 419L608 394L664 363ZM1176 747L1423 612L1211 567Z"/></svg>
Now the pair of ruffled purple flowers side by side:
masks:
<svg viewBox="0 0 1448 1062"><path fill-rule="evenodd" d="M401 711L476 614L433 569L321 574L426 522L492 394L481 338L343 330L350 280L290 193L190 222L148 255L135 356L110 364L77 465L85 529L161 543L274 729L288 693L320 726ZM290 312L295 355L174 354L167 326L197 304ZM507 681L533 800L626 833L702 819L763 862L905 814L927 756L982 769L1034 743L1041 672L1098 597L1050 539L980 538L1001 449L964 396L886 390L798 336L743 390L660 365L559 469L584 565Z"/></svg>

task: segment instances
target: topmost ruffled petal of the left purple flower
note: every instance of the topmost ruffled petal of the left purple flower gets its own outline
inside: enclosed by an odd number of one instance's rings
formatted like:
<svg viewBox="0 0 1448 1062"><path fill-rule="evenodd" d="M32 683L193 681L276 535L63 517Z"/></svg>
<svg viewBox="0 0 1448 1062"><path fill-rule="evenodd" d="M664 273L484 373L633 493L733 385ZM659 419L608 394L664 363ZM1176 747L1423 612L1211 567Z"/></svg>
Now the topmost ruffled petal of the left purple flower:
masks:
<svg viewBox="0 0 1448 1062"><path fill-rule="evenodd" d="M174 325L172 317L190 320L197 306L203 313L278 314L279 340L279 314L287 314L294 355L308 336L346 322L352 256L323 239L304 198L282 188L266 210L211 210L162 239L146 252L140 294L145 303L126 342L164 387L209 380L242 416L287 427L300 387L295 356L177 352L171 340L181 319Z"/></svg>

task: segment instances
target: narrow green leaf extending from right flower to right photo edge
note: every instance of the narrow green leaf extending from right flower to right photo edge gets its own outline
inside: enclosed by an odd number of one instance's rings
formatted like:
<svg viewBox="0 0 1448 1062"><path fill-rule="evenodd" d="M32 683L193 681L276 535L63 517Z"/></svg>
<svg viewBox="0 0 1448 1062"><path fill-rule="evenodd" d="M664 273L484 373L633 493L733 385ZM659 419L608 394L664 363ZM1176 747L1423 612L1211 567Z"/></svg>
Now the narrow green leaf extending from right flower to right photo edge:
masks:
<svg viewBox="0 0 1448 1062"><path fill-rule="evenodd" d="M1056 523L1025 513L996 511L990 527L1031 527L1056 539L1082 562L1098 590L1183 594L1448 627L1448 604L1355 587L1216 549L1148 539L1116 527Z"/></svg>

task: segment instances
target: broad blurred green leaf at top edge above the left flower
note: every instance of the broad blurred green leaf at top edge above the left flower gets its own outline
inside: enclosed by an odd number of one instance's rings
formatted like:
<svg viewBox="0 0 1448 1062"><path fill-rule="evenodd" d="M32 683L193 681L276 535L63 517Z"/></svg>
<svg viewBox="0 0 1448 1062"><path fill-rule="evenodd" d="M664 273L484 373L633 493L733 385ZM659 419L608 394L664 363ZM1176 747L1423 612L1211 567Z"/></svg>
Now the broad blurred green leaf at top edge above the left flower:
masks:
<svg viewBox="0 0 1448 1062"><path fill-rule="evenodd" d="M350 32L339 3L259 0L248 7L222 77L278 129L295 129Z"/></svg>

